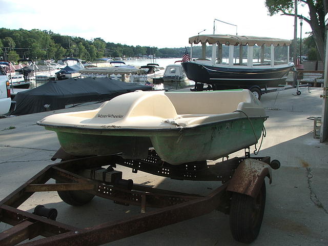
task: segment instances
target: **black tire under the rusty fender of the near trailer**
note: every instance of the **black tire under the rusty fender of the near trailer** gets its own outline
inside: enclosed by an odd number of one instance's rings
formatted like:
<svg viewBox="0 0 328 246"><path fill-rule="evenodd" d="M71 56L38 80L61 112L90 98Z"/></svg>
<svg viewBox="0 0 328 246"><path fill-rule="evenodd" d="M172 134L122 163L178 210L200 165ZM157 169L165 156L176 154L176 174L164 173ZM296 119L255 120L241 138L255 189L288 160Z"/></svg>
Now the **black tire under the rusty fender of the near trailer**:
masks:
<svg viewBox="0 0 328 246"><path fill-rule="evenodd" d="M265 182L256 198L234 192L230 207L230 230L235 240L253 242L260 231L265 207Z"/></svg>

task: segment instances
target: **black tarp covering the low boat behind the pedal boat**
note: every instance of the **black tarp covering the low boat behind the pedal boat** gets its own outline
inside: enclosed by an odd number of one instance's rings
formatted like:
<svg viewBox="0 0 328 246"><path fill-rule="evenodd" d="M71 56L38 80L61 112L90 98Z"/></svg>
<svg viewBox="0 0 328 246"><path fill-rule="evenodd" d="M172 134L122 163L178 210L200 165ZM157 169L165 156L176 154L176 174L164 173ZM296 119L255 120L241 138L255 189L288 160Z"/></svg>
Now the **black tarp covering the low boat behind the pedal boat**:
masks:
<svg viewBox="0 0 328 246"><path fill-rule="evenodd" d="M49 81L34 89L18 92L14 100L16 109L12 115L32 114L64 109L66 105L105 101L135 90L149 91L150 86L130 84L111 78L68 78Z"/></svg>

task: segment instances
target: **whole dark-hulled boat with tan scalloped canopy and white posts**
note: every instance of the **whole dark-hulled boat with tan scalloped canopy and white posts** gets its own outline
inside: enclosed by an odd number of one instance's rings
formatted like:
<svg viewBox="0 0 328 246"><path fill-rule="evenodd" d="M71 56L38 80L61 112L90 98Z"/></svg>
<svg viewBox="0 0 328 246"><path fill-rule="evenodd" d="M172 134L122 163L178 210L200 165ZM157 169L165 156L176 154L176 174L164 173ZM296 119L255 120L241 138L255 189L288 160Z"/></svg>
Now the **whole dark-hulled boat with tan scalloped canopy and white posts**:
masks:
<svg viewBox="0 0 328 246"><path fill-rule="evenodd" d="M191 60L182 63L187 77L213 89L260 89L281 84L293 67L290 40L236 35L197 35L189 38ZM201 43L200 58L193 44ZM207 44L212 57L207 58ZM199 56L199 55L198 55Z"/></svg>

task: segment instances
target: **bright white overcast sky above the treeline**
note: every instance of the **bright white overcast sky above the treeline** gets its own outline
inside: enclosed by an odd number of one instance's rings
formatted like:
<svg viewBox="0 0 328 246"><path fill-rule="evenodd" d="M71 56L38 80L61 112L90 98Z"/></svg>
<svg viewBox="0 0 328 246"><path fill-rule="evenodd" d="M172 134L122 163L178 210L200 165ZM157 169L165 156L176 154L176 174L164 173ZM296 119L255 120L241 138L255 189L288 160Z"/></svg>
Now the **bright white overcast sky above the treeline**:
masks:
<svg viewBox="0 0 328 246"><path fill-rule="evenodd" d="M269 16L264 0L0 0L0 27L40 29L91 40L133 46L189 46L188 38L213 34L214 19L237 25L238 35L293 39L294 18ZM299 14L308 10L299 5ZM236 27L215 22L215 34L236 34ZM298 22L299 29L299 22ZM303 22L302 37L311 31ZM297 36L300 32L298 30Z"/></svg>

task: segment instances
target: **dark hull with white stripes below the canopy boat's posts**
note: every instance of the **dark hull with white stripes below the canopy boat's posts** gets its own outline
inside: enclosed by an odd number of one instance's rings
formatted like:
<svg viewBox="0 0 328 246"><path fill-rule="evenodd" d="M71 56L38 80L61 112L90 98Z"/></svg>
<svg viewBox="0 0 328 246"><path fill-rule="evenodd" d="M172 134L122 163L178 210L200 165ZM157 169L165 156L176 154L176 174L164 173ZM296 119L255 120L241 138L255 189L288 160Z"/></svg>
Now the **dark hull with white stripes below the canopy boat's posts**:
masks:
<svg viewBox="0 0 328 246"><path fill-rule="evenodd" d="M276 68L225 68L193 61L182 63L187 77L196 83L213 85L214 89L249 89L284 83L292 65Z"/></svg>

